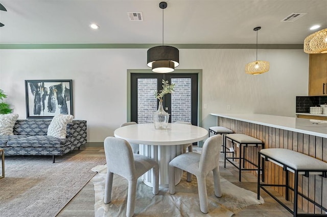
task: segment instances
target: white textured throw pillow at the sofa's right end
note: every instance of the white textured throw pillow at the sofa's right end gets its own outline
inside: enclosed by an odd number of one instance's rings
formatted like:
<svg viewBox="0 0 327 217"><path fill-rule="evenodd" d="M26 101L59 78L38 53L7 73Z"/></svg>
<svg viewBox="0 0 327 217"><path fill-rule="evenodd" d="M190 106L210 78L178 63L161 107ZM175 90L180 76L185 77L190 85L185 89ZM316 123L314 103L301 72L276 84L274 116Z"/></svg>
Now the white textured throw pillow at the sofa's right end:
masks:
<svg viewBox="0 0 327 217"><path fill-rule="evenodd" d="M53 117L48 127L48 136L66 138L66 125L73 121L74 116L70 114L58 114Z"/></svg>

